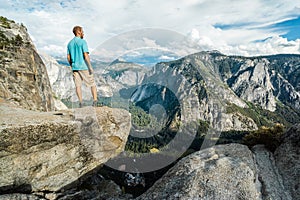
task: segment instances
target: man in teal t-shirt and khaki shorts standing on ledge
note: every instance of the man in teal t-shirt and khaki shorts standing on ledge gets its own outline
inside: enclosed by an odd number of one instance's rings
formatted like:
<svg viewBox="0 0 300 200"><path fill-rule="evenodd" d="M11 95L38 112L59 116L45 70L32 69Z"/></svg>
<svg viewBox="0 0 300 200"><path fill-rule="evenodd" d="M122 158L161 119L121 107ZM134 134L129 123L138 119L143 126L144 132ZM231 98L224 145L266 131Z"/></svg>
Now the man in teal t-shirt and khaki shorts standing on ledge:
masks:
<svg viewBox="0 0 300 200"><path fill-rule="evenodd" d="M75 37L68 43L67 58L73 71L73 79L76 86L76 94L79 100L79 107L82 107L82 81L91 87L93 96L93 106L97 106L97 88L94 79L94 71L91 65L89 50L86 41L83 39L84 33L80 26L73 28Z"/></svg>

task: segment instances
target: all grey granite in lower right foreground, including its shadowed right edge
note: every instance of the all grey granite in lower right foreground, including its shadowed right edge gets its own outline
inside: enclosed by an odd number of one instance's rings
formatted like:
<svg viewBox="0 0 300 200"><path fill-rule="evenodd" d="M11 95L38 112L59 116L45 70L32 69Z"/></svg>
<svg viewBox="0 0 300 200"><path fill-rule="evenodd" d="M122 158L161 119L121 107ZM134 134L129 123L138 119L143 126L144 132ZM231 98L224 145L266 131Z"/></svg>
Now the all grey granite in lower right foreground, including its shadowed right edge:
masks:
<svg viewBox="0 0 300 200"><path fill-rule="evenodd" d="M137 199L299 199L299 124L273 154L263 145L216 145L180 160Z"/></svg>

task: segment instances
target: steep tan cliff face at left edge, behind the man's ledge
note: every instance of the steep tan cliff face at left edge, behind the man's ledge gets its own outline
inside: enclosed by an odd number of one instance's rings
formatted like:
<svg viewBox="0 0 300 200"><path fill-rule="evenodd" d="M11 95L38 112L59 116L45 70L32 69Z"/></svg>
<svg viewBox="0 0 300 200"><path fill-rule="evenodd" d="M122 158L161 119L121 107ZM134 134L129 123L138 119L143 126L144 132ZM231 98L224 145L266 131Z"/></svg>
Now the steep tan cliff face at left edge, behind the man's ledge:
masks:
<svg viewBox="0 0 300 200"><path fill-rule="evenodd" d="M54 109L46 67L26 27L1 17L0 97L30 110Z"/></svg>

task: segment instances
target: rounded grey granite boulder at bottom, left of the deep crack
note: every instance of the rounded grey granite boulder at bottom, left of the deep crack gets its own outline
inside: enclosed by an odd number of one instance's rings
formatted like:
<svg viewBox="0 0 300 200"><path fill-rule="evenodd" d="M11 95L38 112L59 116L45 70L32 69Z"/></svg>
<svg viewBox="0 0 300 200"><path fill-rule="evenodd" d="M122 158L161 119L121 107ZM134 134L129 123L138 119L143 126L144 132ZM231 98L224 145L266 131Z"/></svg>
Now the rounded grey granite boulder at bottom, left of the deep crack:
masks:
<svg viewBox="0 0 300 200"><path fill-rule="evenodd" d="M259 199L255 163L243 145L219 145L180 160L137 199Z"/></svg>

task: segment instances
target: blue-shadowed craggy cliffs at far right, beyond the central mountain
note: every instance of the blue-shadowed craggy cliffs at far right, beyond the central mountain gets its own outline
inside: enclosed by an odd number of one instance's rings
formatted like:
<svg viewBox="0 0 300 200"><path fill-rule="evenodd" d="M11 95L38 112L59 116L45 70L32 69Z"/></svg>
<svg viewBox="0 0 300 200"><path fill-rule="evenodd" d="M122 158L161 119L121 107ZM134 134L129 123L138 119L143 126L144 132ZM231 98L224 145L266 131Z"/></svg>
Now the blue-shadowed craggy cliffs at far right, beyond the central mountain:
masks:
<svg viewBox="0 0 300 200"><path fill-rule="evenodd" d="M278 110L278 101L299 110L299 55L212 58L223 80L242 99L272 112Z"/></svg>

